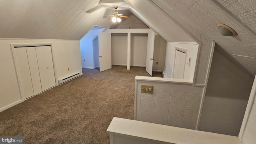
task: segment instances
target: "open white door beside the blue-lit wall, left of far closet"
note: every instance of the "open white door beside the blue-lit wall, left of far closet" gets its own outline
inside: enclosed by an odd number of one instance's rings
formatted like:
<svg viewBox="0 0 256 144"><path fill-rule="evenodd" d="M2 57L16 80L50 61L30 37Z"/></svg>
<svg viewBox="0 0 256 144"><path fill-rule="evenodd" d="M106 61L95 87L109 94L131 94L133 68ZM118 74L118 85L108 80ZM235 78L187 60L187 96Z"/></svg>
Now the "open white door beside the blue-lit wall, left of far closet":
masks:
<svg viewBox="0 0 256 144"><path fill-rule="evenodd" d="M99 32L100 72L112 68L111 33Z"/></svg>

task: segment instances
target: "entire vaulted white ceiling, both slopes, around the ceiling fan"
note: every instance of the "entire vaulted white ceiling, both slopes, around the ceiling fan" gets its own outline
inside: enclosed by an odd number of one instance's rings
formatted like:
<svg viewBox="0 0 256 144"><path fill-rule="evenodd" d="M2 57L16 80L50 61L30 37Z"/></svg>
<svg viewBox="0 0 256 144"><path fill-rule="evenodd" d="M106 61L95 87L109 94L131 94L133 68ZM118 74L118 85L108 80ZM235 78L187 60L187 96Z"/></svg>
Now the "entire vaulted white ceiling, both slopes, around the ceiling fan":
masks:
<svg viewBox="0 0 256 144"><path fill-rule="evenodd" d="M206 34L256 74L256 0L0 0L0 38L80 40L93 26L118 26L102 16L114 5L166 41L196 42ZM238 36L221 36L217 24Z"/></svg>

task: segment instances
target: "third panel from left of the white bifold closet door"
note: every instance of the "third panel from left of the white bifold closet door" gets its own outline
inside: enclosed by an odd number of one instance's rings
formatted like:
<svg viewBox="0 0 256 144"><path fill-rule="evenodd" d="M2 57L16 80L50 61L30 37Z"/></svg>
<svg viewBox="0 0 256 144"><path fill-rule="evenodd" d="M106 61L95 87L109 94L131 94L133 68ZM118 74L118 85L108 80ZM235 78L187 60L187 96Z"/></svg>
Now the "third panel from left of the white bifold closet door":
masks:
<svg viewBox="0 0 256 144"><path fill-rule="evenodd" d="M50 87L48 82L47 65L46 65L46 59L44 56L43 46L36 46L36 56L37 56L37 63L39 68L42 91L44 91Z"/></svg>

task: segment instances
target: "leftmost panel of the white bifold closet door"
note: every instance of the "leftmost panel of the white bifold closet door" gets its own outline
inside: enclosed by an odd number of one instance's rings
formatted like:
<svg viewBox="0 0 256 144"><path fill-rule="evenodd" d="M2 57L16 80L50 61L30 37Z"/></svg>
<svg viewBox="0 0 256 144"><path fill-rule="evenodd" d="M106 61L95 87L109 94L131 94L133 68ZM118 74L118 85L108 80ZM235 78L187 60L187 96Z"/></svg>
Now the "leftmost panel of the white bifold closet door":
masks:
<svg viewBox="0 0 256 144"><path fill-rule="evenodd" d="M26 48L15 48L20 92L24 99L34 96Z"/></svg>

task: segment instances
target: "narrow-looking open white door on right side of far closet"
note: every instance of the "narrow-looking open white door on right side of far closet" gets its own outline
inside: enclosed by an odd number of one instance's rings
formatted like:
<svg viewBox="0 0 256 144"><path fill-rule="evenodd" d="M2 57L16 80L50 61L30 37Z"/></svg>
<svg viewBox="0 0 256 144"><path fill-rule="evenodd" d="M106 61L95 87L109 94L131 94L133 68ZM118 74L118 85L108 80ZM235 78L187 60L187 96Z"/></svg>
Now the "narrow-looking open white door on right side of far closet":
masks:
<svg viewBox="0 0 256 144"><path fill-rule="evenodd" d="M154 56L154 44L155 44L155 33L148 33L148 45L147 45L147 58L146 58L146 71L152 76L153 69L153 56Z"/></svg>

